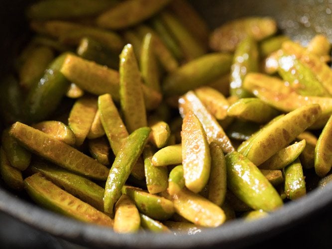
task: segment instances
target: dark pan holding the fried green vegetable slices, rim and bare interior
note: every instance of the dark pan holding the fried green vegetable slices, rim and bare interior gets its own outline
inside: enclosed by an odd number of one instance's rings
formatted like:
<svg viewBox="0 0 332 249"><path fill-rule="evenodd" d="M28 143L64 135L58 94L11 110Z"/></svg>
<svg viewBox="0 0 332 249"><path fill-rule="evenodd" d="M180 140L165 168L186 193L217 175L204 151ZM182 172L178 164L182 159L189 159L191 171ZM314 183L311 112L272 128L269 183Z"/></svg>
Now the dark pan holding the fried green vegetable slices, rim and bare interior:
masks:
<svg viewBox="0 0 332 249"><path fill-rule="evenodd" d="M17 50L28 37L24 21L27 0L2 0L0 8L0 78L9 70ZM246 15L276 18L283 33L304 44L316 32L332 41L331 0L191 0L214 28L226 20ZM236 220L195 236L139 233L118 235L110 229L84 224L44 210L0 182L0 211L45 233L94 248L222 248L243 247L266 240L304 224L332 207L332 184L315 189L304 198L287 203L268 217L244 223ZM305 236L305 235L304 235Z"/></svg>

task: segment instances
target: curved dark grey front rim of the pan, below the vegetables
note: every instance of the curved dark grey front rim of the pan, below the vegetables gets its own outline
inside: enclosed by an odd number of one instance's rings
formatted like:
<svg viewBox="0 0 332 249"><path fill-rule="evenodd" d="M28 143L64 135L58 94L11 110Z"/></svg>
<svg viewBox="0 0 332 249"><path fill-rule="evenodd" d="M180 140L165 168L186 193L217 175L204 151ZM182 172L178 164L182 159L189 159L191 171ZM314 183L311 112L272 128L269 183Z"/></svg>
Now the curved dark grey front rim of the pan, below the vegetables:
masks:
<svg viewBox="0 0 332 249"><path fill-rule="evenodd" d="M251 222L243 219L230 221L218 228L205 229L196 235L173 234L117 234L110 228L86 224L43 209L19 199L0 188L0 211L19 221L55 237L73 241L82 246L106 248L192 248L219 245L232 248L250 244L258 237L268 239L298 225L332 203L332 184L317 188L300 198L286 203L267 217Z"/></svg>

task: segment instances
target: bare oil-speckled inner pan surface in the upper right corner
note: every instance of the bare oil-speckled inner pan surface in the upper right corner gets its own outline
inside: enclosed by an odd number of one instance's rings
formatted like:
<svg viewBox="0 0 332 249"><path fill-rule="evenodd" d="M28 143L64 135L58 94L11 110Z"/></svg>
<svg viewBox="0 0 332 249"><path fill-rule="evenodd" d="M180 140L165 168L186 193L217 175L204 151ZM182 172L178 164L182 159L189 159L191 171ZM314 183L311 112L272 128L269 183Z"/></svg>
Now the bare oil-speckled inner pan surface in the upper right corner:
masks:
<svg viewBox="0 0 332 249"><path fill-rule="evenodd" d="M248 15L272 16L282 33L306 44L316 33L332 41L332 2L329 0L205 0L191 1L211 27Z"/></svg>

